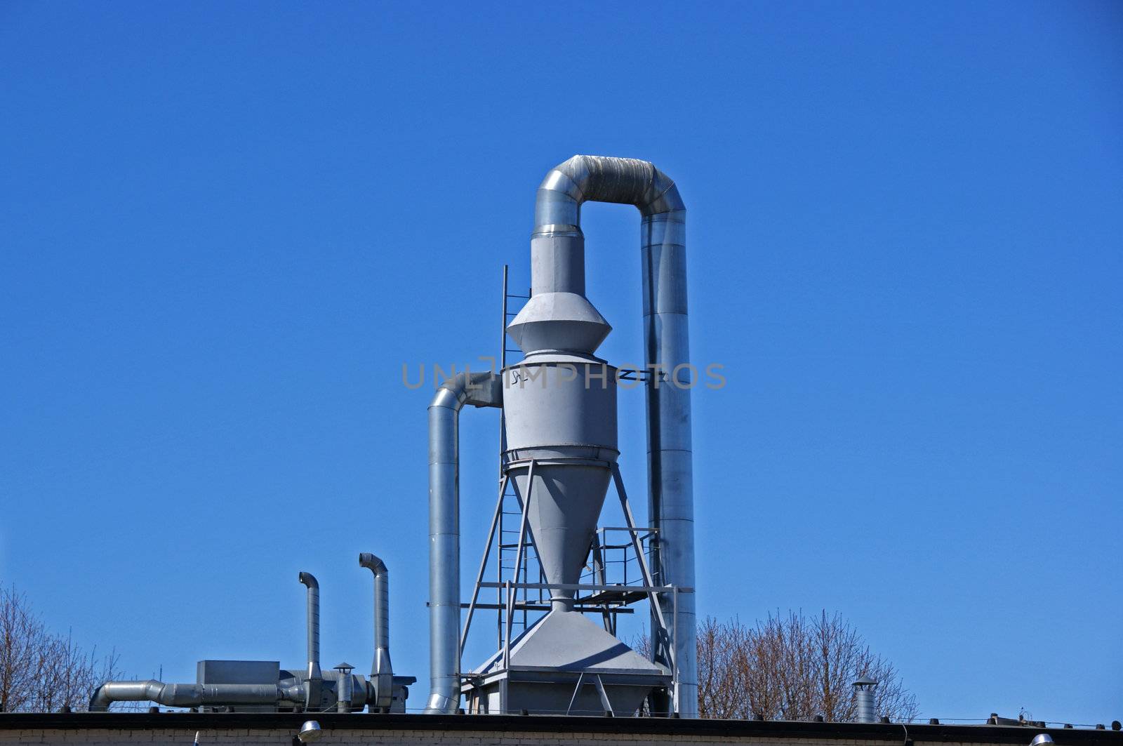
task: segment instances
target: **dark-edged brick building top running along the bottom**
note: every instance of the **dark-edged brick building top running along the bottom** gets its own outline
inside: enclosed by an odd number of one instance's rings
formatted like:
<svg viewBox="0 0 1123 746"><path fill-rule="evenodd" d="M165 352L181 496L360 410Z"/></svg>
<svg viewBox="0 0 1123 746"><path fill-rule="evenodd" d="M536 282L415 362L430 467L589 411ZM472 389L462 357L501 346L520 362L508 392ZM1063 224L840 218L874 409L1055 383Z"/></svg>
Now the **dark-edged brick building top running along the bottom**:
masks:
<svg viewBox="0 0 1123 746"><path fill-rule="evenodd" d="M666 718L347 713L0 713L0 746L291 746L304 719L323 746L1123 746L1113 730L1007 726L770 722Z"/></svg>

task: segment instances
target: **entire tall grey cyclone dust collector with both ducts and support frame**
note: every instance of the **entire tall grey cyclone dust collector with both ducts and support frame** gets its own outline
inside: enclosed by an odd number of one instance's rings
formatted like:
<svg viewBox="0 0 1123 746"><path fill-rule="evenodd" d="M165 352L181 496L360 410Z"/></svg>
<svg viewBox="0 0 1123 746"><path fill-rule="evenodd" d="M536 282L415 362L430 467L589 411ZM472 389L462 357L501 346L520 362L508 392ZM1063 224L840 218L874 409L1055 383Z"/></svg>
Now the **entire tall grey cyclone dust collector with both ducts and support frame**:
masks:
<svg viewBox="0 0 1123 746"><path fill-rule="evenodd" d="M632 204L641 215L641 371L595 356L612 327L585 297L581 206L590 201ZM499 375L462 373L429 407L428 712L455 712L464 695L468 712L697 715L685 217L674 182L643 161L578 155L539 186L531 292L510 324L504 275L505 333L523 358L506 365L504 344ZM623 379L646 389L648 526L636 525L617 463ZM501 407L503 443L499 501L472 599L462 604L457 420L465 403ZM610 485L627 525L597 530ZM613 549L624 553L634 582L608 582ZM494 581L485 580L492 555ZM614 636L615 615L639 600L650 604L647 657ZM465 670L480 609L499 615L499 649Z"/></svg>

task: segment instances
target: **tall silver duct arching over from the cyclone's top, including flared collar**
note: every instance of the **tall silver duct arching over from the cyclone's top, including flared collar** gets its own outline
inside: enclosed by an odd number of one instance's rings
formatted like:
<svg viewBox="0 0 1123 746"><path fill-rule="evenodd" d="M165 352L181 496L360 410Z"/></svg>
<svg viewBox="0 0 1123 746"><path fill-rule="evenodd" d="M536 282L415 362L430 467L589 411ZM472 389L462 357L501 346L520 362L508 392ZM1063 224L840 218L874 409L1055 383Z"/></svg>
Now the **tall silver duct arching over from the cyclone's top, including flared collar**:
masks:
<svg viewBox="0 0 1123 746"><path fill-rule="evenodd" d="M538 188L531 237L532 298L509 331L520 347L593 351L610 327L584 298L583 202L633 204L642 216L643 354L650 521L658 529L651 570L658 585L694 588L694 498L686 309L686 207L675 183L646 161L575 155ZM541 342L539 342L539 339ZM562 344L559 345L559 340ZM694 593L661 599L677 619L676 709L697 715ZM669 661L659 661L668 664Z"/></svg>

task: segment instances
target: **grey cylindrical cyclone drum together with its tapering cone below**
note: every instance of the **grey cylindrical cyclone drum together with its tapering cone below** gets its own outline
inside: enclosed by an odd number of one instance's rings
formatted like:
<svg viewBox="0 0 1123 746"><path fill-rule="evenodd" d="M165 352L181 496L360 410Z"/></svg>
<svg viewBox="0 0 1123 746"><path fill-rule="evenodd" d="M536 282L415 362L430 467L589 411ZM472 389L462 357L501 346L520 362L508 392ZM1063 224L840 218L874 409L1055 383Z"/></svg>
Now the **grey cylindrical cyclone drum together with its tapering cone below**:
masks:
<svg viewBox="0 0 1123 746"><path fill-rule="evenodd" d="M508 367L503 385L505 468L529 498L546 582L577 583L619 455L615 369L592 355L537 353ZM551 588L554 608L572 609L574 593Z"/></svg>

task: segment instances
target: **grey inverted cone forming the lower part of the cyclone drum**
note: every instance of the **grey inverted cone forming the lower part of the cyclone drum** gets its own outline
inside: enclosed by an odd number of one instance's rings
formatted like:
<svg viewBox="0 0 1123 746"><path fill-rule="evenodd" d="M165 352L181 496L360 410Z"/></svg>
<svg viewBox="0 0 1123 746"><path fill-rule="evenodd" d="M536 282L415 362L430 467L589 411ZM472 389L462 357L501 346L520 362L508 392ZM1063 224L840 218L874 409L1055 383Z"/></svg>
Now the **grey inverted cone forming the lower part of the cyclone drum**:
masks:
<svg viewBox="0 0 1123 746"><path fill-rule="evenodd" d="M521 467L511 474L523 501L528 471ZM547 583L573 584L581 580L611 479L606 465L535 464L527 525ZM572 599L574 593L551 590L554 598Z"/></svg>

